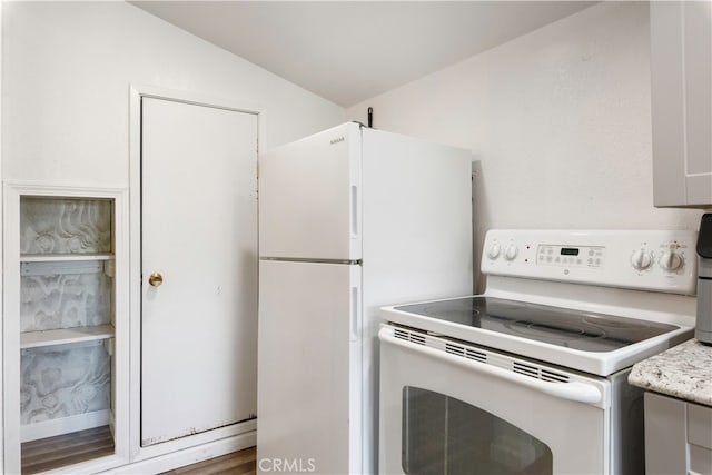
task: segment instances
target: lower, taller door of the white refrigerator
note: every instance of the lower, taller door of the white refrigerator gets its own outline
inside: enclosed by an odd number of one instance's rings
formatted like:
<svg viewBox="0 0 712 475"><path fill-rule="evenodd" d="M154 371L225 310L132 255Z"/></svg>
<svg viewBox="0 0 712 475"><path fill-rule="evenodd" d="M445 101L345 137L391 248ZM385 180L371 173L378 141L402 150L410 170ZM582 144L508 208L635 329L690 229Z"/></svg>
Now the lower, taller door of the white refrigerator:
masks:
<svg viewBox="0 0 712 475"><path fill-rule="evenodd" d="M257 471L362 473L360 267L261 260Z"/></svg>

